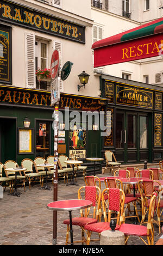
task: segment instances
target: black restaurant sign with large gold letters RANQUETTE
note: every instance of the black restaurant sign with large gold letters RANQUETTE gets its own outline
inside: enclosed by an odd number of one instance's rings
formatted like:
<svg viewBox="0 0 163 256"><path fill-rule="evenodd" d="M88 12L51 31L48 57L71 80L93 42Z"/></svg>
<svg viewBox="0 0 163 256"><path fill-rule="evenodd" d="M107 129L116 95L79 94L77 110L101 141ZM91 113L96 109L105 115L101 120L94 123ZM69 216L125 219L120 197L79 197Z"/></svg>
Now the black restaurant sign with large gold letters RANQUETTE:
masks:
<svg viewBox="0 0 163 256"><path fill-rule="evenodd" d="M0 0L0 20L85 44L85 27Z"/></svg>

